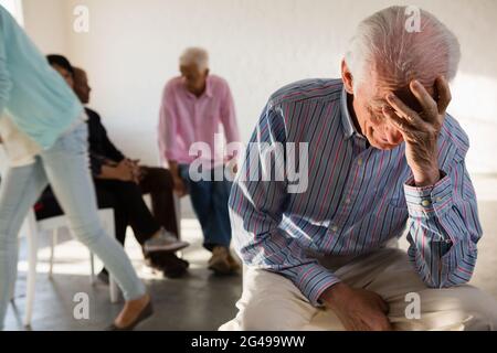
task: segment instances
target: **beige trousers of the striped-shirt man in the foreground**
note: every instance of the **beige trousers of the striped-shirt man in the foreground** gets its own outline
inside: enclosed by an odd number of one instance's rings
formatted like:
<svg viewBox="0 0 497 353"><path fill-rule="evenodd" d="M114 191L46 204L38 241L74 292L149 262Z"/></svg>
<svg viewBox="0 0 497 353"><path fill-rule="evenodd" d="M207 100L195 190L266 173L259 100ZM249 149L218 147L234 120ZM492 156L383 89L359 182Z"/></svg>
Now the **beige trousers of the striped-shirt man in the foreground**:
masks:
<svg viewBox="0 0 497 353"><path fill-rule="evenodd" d="M345 284L379 293L390 307L394 330L497 329L494 298L468 285L427 288L403 250L383 248L353 259L318 260ZM261 269L245 269L236 307L236 318L221 331L343 330L331 310L313 307L290 280Z"/></svg>

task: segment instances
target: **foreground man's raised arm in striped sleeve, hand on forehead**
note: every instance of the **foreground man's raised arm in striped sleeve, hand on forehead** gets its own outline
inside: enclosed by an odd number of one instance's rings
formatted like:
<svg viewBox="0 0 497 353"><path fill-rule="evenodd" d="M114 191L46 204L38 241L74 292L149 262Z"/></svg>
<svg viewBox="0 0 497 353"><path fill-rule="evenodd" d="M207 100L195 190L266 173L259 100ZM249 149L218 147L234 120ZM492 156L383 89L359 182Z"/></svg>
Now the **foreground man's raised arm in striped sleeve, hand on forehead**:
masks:
<svg viewBox="0 0 497 353"><path fill-rule="evenodd" d="M440 153L440 136L442 129L448 129L445 111L451 101L444 77L435 81L436 101L419 82L411 82L410 88L422 114L394 94L387 95L390 107L383 108L385 118L402 133L413 174L404 185L410 215L409 256L427 286L464 284L473 275L476 243L482 236L476 196L464 162L469 143L456 127L446 133L452 140L447 142L454 145L452 156ZM451 162L444 163L447 158ZM441 165L447 170L441 171Z"/></svg>

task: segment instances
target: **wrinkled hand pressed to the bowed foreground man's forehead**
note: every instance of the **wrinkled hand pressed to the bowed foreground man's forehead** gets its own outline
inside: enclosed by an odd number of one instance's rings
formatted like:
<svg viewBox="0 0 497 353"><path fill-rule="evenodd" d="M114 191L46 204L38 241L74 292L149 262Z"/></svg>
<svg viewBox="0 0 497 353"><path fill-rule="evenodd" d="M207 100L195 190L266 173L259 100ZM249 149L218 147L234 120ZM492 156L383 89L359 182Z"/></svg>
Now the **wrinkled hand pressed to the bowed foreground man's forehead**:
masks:
<svg viewBox="0 0 497 353"><path fill-rule="evenodd" d="M451 90L442 76L435 79L434 88L437 101L417 81L411 82L410 89L421 105L421 113L410 108L393 93L387 95L389 106L383 107L383 115L405 141L405 158L416 186L433 185L441 179L437 140L451 101Z"/></svg>

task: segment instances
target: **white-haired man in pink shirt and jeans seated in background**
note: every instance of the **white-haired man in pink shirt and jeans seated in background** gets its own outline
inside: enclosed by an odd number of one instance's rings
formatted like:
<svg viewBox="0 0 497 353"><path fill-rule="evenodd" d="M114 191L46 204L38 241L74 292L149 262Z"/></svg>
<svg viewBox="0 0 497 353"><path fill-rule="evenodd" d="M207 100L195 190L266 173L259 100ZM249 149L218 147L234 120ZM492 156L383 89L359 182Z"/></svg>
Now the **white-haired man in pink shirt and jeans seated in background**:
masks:
<svg viewBox="0 0 497 353"><path fill-rule="evenodd" d="M175 192L179 196L190 193L203 245L212 252L209 268L231 274L240 266L230 254L231 182L224 176L224 167L234 156L224 156L214 141L223 130L228 143L240 141L233 98L223 78L209 75L209 55L203 49L187 49L180 57L180 72L162 95L160 156L169 163Z"/></svg>

